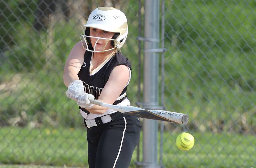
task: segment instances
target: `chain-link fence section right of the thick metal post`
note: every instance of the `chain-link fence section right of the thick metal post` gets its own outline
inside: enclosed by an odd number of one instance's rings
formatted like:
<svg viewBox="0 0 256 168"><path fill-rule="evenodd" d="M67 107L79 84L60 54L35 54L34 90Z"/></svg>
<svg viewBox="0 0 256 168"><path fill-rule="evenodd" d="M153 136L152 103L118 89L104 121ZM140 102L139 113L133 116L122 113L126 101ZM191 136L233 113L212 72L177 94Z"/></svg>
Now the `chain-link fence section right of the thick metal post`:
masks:
<svg viewBox="0 0 256 168"><path fill-rule="evenodd" d="M256 1L173 0L164 12L164 104L190 122L164 123L162 165L255 167ZM176 149L181 131L193 151Z"/></svg>

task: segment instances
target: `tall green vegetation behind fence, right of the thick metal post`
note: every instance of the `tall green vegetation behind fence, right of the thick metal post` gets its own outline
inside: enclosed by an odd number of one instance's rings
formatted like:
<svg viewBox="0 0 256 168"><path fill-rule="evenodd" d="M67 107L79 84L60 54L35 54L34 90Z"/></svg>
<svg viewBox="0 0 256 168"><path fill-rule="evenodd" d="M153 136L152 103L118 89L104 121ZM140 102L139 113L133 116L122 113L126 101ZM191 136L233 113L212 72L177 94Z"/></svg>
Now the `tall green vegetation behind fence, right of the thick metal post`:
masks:
<svg viewBox="0 0 256 168"><path fill-rule="evenodd" d="M188 113L191 128L249 132L245 127L256 118L255 2L165 5L165 31L172 38L165 39L167 109ZM243 125L242 117L251 122Z"/></svg>

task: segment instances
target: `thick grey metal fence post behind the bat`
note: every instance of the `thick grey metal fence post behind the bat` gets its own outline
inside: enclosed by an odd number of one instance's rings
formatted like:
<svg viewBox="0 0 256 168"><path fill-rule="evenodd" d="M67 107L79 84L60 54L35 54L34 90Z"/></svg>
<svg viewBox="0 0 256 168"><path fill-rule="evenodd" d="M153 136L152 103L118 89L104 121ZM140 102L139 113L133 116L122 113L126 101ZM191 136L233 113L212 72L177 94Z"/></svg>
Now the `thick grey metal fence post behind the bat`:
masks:
<svg viewBox="0 0 256 168"><path fill-rule="evenodd" d="M145 0L144 37L159 39L159 0ZM158 106L158 62L156 52L149 49L159 48L159 40L144 41L143 68L143 107ZM143 121L143 168L157 168L157 121Z"/></svg>

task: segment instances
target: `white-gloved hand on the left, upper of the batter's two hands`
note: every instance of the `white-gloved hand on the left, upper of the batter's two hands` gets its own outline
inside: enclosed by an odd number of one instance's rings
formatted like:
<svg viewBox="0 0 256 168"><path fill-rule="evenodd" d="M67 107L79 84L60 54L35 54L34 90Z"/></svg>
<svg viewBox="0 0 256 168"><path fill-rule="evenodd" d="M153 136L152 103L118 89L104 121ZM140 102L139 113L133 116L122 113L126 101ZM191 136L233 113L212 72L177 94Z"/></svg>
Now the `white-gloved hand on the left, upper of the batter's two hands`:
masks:
<svg viewBox="0 0 256 168"><path fill-rule="evenodd" d="M70 83L66 95L68 98L76 101L78 96L84 94L84 85L81 80L75 80Z"/></svg>

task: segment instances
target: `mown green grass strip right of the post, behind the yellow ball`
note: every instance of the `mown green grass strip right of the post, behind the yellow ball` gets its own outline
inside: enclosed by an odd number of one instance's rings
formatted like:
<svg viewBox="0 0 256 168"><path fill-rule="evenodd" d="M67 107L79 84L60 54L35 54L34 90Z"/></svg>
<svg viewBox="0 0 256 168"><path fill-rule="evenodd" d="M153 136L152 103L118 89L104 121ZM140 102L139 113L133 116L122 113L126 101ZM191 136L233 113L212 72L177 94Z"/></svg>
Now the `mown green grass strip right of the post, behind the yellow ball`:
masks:
<svg viewBox="0 0 256 168"><path fill-rule="evenodd" d="M178 150L175 135L164 136L163 163L166 167L253 167L256 163L255 137L237 134L194 133L195 146ZM174 166L175 165L175 166Z"/></svg>

